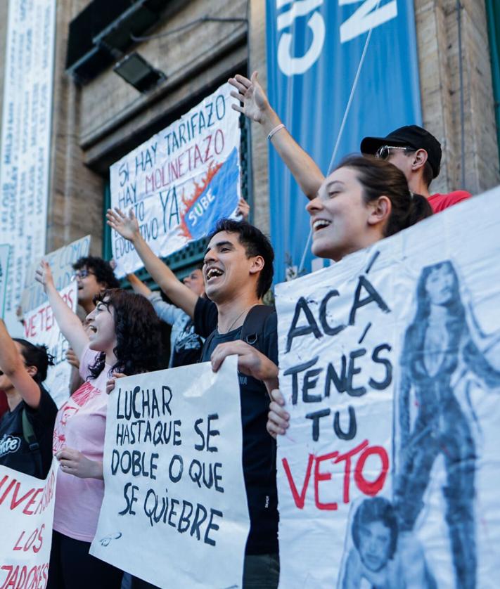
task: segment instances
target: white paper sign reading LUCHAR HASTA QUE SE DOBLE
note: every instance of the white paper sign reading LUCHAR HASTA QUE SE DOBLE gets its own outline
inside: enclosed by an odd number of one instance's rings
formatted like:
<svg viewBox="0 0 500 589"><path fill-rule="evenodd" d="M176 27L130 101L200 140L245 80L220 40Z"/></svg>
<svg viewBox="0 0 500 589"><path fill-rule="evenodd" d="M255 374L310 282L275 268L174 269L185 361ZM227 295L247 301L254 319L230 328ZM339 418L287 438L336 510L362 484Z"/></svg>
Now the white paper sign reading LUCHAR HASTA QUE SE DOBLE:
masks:
<svg viewBox="0 0 500 589"><path fill-rule="evenodd" d="M91 554L160 587L241 587L250 524L236 366L231 356L217 374L205 362L117 380Z"/></svg>

